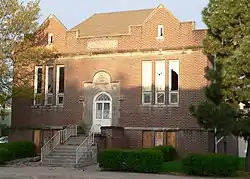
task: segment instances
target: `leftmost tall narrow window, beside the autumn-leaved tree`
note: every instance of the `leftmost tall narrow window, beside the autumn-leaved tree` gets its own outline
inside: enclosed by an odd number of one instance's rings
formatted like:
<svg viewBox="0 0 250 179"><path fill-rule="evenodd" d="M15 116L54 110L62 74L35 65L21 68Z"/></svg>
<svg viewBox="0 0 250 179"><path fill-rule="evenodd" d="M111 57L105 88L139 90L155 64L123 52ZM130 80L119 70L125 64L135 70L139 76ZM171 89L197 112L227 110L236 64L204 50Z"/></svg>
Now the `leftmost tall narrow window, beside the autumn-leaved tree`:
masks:
<svg viewBox="0 0 250 179"><path fill-rule="evenodd" d="M42 84L43 84L43 68L42 66L35 66L34 105L42 104Z"/></svg>

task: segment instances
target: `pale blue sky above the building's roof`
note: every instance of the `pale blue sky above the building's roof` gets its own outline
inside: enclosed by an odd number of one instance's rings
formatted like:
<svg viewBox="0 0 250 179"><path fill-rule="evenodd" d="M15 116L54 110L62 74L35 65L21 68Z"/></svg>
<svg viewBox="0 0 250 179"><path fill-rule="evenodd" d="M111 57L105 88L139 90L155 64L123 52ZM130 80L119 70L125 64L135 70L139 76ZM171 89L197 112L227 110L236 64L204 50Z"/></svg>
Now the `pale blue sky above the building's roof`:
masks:
<svg viewBox="0 0 250 179"><path fill-rule="evenodd" d="M209 0L41 0L42 23L50 14L68 28L81 23L95 13L155 8L163 4L181 21L196 21L197 29L206 28L201 11Z"/></svg>

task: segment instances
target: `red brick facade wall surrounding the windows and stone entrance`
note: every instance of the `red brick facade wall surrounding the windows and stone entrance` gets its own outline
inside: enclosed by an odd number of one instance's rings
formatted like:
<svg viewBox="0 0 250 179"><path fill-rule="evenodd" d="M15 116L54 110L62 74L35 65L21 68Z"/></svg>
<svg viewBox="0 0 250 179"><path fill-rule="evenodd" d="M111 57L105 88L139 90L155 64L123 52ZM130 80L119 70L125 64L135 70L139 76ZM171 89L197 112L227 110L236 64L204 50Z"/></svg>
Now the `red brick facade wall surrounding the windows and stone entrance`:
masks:
<svg viewBox="0 0 250 179"><path fill-rule="evenodd" d="M158 41L157 26L164 25L165 39ZM68 125L82 120L83 106L78 99L83 94L83 83L91 82L96 72L104 70L112 81L119 81L121 96L119 124L127 127L180 127L196 128L196 121L189 115L188 108L202 98L202 88L207 85L204 68L208 60L201 49L191 50L189 46L199 46L204 31L195 31L192 23L180 23L165 9L156 9L145 24L131 27L131 34L102 38L76 38L76 32L65 31L56 19L50 19L45 32L55 36L54 47L62 53L74 53L58 59L55 64L65 65L65 104L63 107L32 108L32 100L13 99L12 125ZM116 39L117 50L141 50L141 52L84 55L89 40ZM184 50L183 48L186 48ZM143 49L175 49L145 52ZM183 50L183 51L182 51ZM189 50L189 51L188 51ZM101 53L101 52L100 52ZM141 105L141 62L143 60L166 60L166 86L168 87L168 61L180 60L180 105L169 106ZM154 76L153 76L154 81ZM168 94L166 94L168 96ZM166 98L168 101L168 98ZM129 137L131 146L140 145Z"/></svg>

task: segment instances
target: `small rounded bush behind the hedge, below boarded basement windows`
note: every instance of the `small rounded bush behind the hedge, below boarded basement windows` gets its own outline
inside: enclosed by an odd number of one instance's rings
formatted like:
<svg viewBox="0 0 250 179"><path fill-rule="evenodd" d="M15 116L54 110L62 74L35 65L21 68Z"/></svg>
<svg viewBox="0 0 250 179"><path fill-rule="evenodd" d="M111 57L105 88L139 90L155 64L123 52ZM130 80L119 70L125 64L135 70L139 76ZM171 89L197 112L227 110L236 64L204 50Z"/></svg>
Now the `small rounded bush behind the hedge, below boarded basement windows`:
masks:
<svg viewBox="0 0 250 179"><path fill-rule="evenodd" d="M176 158L176 149L171 145L159 146L155 147L154 149L160 150L162 152L164 162L173 161Z"/></svg>

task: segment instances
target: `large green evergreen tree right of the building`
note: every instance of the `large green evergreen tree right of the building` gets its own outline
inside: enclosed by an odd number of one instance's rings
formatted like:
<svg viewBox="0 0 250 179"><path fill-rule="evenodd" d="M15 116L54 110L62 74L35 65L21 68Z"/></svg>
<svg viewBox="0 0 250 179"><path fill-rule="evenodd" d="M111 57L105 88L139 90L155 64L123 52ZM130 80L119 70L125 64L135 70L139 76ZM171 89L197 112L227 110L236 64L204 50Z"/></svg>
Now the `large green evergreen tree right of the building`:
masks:
<svg viewBox="0 0 250 179"><path fill-rule="evenodd" d="M205 90L206 101L190 111L202 127L243 136L250 144L250 113L239 110L240 102L248 107L250 101L249 14L249 0L210 0L203 10L208 27L203 47L205 54L214 58L214 65L206 71L211 82ZM248 145L247 171L249 150Z"/></svg>

